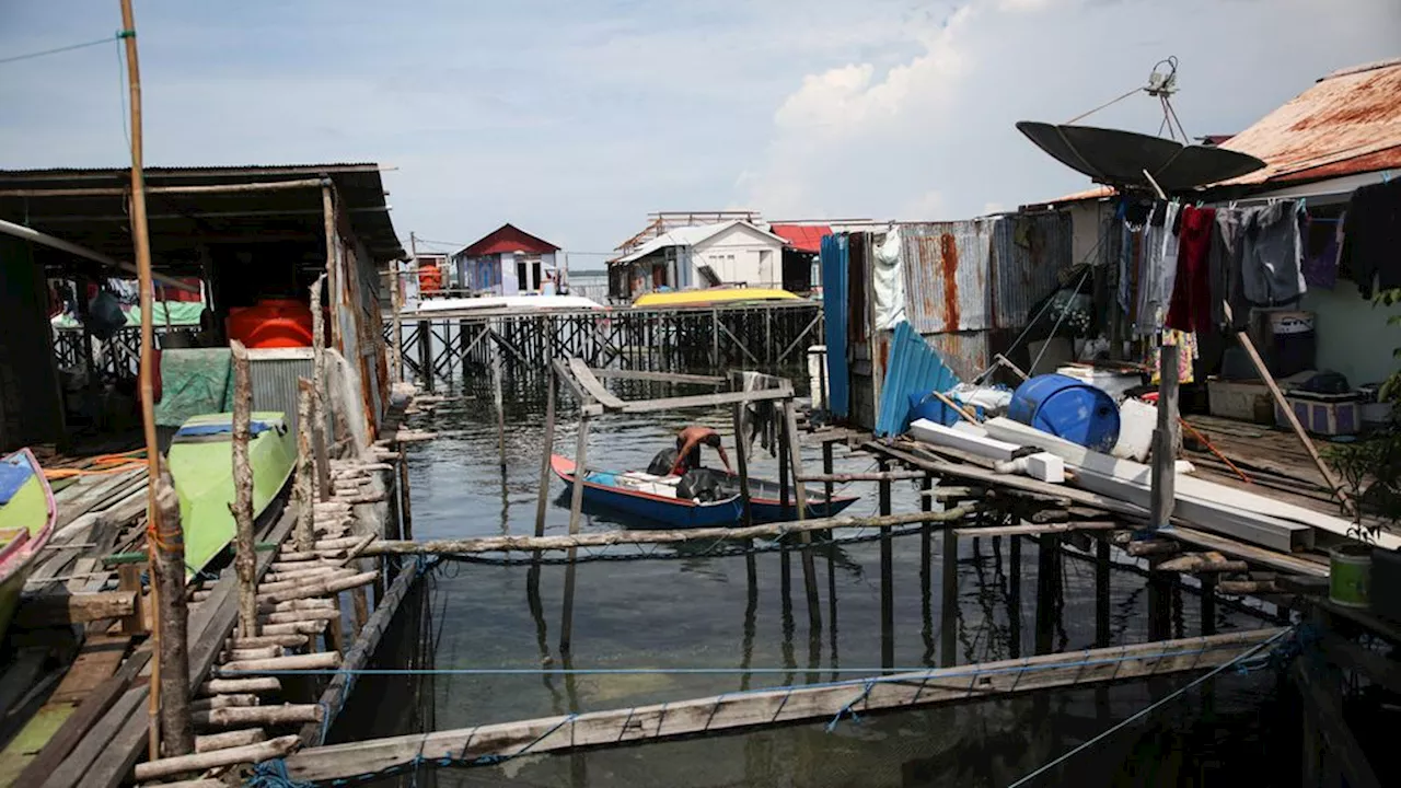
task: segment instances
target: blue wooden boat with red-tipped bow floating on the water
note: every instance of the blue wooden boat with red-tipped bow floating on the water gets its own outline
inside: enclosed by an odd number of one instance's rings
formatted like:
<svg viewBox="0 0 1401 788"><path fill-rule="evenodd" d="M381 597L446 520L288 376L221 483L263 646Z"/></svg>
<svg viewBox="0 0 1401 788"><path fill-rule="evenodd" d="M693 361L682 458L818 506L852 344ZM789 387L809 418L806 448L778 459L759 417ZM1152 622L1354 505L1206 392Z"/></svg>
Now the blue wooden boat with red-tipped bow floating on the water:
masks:
<svg viewBox="0 0 1401 788"><path fill-rule="evenodd" d="M573 460L553 454L549 464L555 475L569 485L574 484ZM646 517L674 529L733 526L744 519L740 478L723 471L712 473L720 480L720 494L713 501L696 501L677 494L681 477L658 477L642 471L588 471L584 475L584 502ZM750 510L755 523L797 519L794 503L789 503L785 516L779 492L778 482L750 478ZM855 496L834 495L828 501L822 492L808 491L807 516L828 517L855 502Z"/></svg>

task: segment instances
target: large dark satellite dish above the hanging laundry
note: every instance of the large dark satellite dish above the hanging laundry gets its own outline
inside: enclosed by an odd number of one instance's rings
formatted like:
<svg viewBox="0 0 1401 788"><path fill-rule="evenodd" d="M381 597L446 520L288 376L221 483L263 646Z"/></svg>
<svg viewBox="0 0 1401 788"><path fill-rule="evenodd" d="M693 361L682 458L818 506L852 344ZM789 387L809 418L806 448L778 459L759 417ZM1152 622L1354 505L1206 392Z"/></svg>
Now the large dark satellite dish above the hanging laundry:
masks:
<svg viewBox="0 0 1401 788"><path fill-rule="evenodd" d="M1021 121L1017 130L1066 167L1111 186L1153 188L1147 171L1164 192L1229 181L1265 165L1223 147L1184 146L1174 140L1094 126L1058 126Z"/></svg>

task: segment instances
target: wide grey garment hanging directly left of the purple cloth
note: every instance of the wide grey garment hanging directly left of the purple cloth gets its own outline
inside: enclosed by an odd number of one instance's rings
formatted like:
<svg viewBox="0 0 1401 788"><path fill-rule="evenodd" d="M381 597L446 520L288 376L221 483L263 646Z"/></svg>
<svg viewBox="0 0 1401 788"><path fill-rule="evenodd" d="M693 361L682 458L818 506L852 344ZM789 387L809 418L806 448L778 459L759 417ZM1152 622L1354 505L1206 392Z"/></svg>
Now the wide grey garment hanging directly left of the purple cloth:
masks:
<svg viewBox="0 0 1401 788"><path fill-rule="evenodd" d="M1299 203L1279 201L1245 212L1241 285L1255 306L1292 301L1309 286L1303 272Z"/></svg>

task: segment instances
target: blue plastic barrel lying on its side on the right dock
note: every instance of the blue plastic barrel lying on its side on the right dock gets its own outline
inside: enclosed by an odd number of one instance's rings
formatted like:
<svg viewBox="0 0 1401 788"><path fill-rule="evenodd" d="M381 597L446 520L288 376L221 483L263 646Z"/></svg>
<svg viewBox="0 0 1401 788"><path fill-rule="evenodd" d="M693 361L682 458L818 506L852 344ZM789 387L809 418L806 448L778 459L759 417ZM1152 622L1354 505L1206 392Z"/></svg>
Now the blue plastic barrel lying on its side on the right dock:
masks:
<svg viewBox="0 0 1401 788"><path fill-rule="evenodd" d="M1119 439L1119 407L1103 390L1063 374L1038 374L1012 394L1007 416L1108 453Z"/></svg>

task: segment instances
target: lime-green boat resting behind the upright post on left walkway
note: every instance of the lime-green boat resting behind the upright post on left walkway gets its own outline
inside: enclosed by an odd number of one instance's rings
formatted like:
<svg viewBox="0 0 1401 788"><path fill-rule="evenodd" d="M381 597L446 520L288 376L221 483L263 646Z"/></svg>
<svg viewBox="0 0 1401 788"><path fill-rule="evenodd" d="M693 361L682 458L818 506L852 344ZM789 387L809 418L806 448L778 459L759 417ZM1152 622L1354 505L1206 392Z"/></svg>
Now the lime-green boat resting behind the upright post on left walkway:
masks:
<svg viewBox="0 0 1401 788"><path fill-rule="evenodd" d="M203 569L234 540L233 414L188 419L171 440L170 468L185 531L185 572ZM254 412L248 463L254 470L254 516L282 492L297 463L296 437L280 412Z"/></svg>

